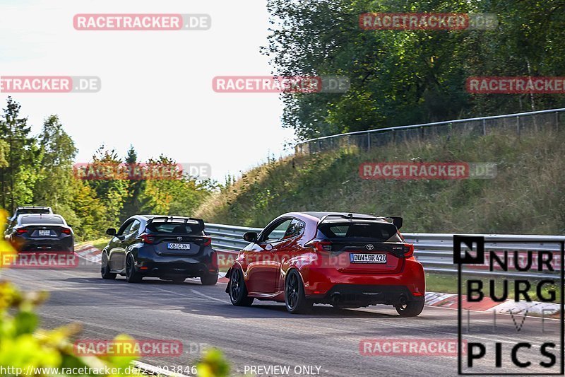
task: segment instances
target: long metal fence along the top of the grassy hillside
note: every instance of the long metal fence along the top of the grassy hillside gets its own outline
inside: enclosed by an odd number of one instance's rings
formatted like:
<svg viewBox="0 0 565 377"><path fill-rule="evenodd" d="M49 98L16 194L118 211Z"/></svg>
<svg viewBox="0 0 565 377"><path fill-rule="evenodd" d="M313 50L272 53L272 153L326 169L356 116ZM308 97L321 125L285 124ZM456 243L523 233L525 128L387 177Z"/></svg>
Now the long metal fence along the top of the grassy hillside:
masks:
<svg viewBox="0 0 565 377"><path fill-rule="evenodd" d="M350 147L370 151L371 148L386 144L441 136L484 136L492 132L521 134L529 130L558 130L560 124L565 125L562 112L565 112L565 108L349 132L302 141L295 146L295 153L311 154Z"/></svg>

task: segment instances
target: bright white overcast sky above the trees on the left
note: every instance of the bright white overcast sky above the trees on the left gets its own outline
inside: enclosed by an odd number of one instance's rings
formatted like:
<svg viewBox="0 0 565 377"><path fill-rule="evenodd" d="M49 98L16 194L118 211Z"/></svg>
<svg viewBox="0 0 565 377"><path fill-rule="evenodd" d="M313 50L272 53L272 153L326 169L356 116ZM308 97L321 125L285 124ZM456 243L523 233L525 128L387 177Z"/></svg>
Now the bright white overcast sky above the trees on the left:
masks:
<svg viewBox="0 0 565 377"><path fill-rule="evenodd" d="M81 31L78 13L205 13L209 30ZM40 132L59 115L91 160L102 144L141 161L208 163L213 178L290 153L277 93L215 93L215 76L266 76L266 1L0 0L0 76L98 76L97 93L12 93ZM0 93L1 108L7 93Z"/></svg>

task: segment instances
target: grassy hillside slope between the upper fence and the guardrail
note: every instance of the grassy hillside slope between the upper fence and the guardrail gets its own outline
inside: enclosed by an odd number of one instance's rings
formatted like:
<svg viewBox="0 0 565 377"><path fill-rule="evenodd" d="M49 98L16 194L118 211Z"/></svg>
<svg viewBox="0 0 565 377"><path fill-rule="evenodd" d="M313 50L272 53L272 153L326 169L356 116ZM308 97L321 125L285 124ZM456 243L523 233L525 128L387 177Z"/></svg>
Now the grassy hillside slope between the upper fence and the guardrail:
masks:
<svg viewBox="0 0 565 377"><path fill-rule="evenodd" d="M287 211L405 218L405 232L565 233L565 132L412 141L291 156L245 173L198 209L205 221L265 226ZM494 179L362 180L365 161L494 162Z"/></svg>

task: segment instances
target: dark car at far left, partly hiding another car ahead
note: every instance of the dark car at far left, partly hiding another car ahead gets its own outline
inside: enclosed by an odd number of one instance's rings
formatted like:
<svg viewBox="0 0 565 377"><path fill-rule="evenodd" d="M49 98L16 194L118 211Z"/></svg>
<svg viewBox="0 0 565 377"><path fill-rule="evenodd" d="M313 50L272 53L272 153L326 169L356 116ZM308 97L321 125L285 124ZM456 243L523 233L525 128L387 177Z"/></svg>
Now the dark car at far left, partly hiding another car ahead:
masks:
<svg viewBox="0 0 565 377"><path fill-rule="evenodd" d="M74 251L71 226L57 214L22 214L6 230L6 239L18 251Z"/></svg>

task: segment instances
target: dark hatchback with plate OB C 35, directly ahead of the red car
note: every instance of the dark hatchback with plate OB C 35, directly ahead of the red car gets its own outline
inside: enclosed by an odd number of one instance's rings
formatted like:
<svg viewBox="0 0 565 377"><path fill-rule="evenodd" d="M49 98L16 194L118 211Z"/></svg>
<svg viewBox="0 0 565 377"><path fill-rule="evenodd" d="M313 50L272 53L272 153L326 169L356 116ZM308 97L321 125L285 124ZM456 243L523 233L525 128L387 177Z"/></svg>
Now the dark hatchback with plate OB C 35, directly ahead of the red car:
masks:
<svg viewBox="0 0 565 377"><path fill-rule="evenodd" d="M143 277L176 283L199 277L203 285L218 282L218 257L201 219L135 215L106 233L113 238L102 250L102 279L120 274L130 283Z"/></svg>

